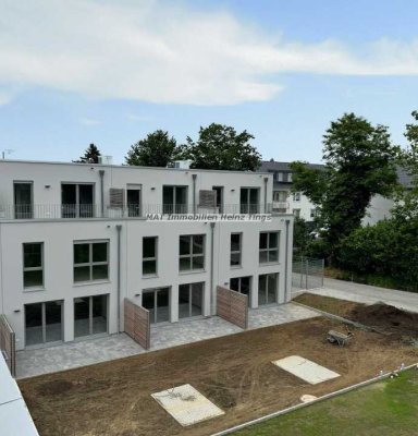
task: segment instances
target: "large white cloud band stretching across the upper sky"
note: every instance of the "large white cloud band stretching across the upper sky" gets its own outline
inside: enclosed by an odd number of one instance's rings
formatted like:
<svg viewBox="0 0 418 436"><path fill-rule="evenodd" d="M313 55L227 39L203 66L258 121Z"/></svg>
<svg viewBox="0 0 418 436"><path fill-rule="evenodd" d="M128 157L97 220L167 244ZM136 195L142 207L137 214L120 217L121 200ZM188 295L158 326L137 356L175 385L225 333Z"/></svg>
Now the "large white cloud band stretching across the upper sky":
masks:
<svg viewBox="0 0 418 436"><path fill-rule="evenodd" d="M0 85L10 87L233 105L272 98L284 72L418 74L418 39L357 53L339 41L286 41L184 2L0 0Z"/></svg>

